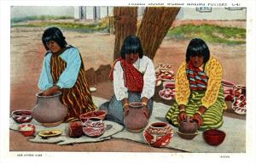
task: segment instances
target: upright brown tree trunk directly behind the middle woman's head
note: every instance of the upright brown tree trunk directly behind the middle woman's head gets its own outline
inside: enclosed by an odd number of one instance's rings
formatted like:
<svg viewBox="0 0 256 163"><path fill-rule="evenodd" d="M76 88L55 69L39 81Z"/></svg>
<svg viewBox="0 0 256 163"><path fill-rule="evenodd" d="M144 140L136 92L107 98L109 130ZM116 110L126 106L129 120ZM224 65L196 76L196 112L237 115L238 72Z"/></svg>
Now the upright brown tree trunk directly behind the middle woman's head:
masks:
<svg viewBox="0 0 256 163"><path fill-rule="evenodd" d="M137 7L114 7L113 19L115 28L113 59L117 59L125 37L136 35Z"/></svg>

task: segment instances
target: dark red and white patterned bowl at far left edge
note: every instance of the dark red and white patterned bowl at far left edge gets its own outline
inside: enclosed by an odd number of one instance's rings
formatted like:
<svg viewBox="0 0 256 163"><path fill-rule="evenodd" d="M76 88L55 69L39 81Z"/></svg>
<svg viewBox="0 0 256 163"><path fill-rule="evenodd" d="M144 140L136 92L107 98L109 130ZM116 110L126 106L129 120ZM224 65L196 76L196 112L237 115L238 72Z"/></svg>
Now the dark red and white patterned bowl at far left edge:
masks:
<svg viewBox="0 0 256 163"><path fill-rule="evenodd" d="M12 112L12 118L17 123L29 123L32 121L31 110L15 110Z"/></svg>

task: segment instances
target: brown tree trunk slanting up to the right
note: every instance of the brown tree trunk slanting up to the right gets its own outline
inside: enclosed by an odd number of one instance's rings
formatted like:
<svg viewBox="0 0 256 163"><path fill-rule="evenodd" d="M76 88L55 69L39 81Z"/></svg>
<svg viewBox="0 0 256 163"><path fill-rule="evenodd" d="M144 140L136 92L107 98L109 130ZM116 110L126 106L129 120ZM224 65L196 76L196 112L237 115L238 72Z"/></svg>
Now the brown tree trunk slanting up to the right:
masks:
<svg viewBox="0 0 256 163"><path fill-rule="evenodd" d="M137 36L141 39L144 53L154 59L160 43L172 26L180 8L146 8Z"/></svg>

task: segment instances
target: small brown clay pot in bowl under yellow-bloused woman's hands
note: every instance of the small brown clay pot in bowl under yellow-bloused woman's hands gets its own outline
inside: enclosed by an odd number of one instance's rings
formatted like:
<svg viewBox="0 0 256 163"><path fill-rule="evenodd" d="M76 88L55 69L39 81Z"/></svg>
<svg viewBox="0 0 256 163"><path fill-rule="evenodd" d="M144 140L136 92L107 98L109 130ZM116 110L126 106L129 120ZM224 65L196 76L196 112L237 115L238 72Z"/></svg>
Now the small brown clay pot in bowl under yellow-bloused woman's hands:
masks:
<svg viewBox="0 0 256 163"><path fill-rule="evenodd" d="M193 121L188 116L186 120L179 123L177 134L180 138L193 139L198 135L197 129L199 128L196 121Z"/></svg>

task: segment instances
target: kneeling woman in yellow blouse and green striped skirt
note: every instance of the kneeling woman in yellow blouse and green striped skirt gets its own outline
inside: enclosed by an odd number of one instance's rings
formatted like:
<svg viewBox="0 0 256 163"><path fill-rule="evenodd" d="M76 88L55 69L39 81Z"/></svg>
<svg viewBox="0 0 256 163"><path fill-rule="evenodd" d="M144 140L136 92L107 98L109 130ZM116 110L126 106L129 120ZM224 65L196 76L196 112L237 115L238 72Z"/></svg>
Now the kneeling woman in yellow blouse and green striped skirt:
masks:
<svg viewBox="0 0 256 163"><path fill-rule="evenodd" d="M222 126L226 109L222 77L222 65L210 56L206 42L192 39L186 61L177 70L176 102L166 114L167 121L177 126L190 116L200 130Z"/></svg>

